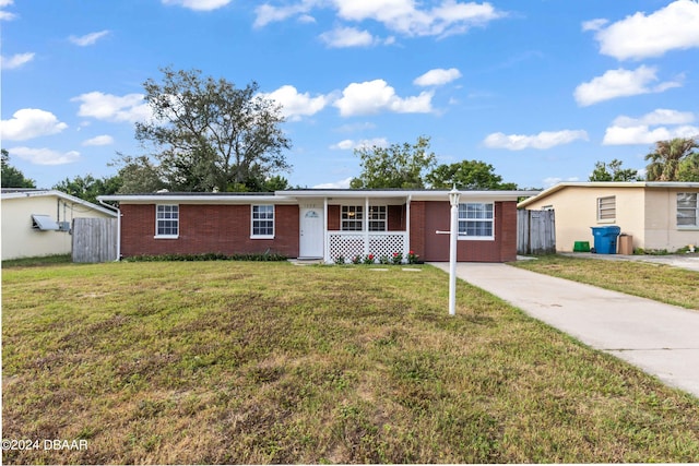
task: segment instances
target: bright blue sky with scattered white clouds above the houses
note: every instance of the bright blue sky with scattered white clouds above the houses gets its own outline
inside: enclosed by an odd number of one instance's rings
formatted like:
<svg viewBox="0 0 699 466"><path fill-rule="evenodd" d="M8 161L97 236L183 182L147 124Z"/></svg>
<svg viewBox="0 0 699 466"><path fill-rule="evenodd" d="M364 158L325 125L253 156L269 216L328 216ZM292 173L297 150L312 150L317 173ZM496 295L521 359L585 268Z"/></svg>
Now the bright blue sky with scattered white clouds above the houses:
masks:
<svg viewBox="0 0 699 466"><path fill-rule="evenodd" d="M42 188L146 153L143 82L168 65L258 82L309 188L420 135L546 188L699 134L697 0L0 0L0 28L2 147Z"/></svg>

